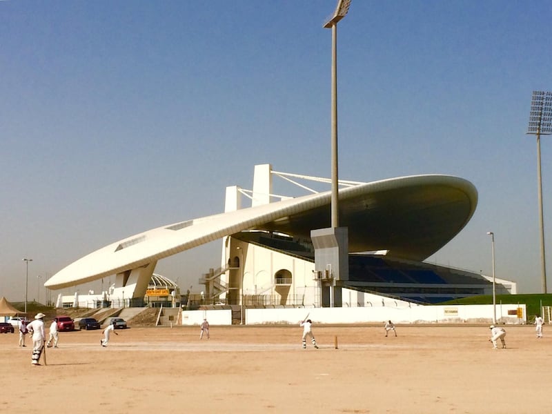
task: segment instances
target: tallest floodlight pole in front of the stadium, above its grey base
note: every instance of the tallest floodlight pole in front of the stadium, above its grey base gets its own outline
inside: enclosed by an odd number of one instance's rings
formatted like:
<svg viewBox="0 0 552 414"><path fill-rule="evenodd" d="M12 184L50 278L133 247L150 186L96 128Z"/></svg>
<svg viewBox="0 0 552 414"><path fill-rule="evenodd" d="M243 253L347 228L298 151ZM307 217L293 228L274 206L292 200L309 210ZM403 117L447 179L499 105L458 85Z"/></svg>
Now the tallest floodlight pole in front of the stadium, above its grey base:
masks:
<svg viewBox="0 0 552 414"><path fill-rule="evenodd" d="M331 226L339 227L339 175L337 168L337 22L345 17L351 6L351 0L338 0L335 12L326 23L324 28L332 30L332 203L331 203Z"/></svg>

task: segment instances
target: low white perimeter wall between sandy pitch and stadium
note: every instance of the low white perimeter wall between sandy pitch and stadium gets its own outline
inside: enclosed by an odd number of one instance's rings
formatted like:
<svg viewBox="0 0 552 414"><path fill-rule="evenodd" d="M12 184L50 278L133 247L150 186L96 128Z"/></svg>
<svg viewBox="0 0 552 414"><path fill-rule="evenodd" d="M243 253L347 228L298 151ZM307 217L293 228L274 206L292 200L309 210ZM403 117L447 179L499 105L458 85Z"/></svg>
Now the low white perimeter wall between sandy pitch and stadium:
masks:
<svg viewBox="0 0 552 414"><path fill-rule="evenodd" d="M522 318L514 313L521 309ZM514 313L513 315L509 315ZM493 305L457 306L377 306L364 308L277 308L246 309L247 325L297 324L307 317L316 324L383 324L391 319L396 324L458 324L489 323L493 321ZM231 311L182 311L183 325L199 325L206 317L209 324L231 325ZM496 306L497 322L500 324L525 324L524 304L500 304Z"/></svg>

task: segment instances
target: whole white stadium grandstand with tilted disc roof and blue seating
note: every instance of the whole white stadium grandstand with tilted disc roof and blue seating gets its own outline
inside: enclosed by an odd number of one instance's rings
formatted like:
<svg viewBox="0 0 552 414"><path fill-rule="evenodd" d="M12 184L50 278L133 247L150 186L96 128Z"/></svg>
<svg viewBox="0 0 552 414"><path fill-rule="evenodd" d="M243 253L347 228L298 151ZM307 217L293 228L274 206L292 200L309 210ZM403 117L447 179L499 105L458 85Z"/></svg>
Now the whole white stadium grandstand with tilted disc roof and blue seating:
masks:
<svg viewBox="0 0 552 414"><path fill-rule="evenodd" d="M313 194L274 195L273 177ZM312 230L330 225L331 192L317 193L300 180L329 182L277 172L270 164L255 166L253 190L226 188L224 213L110 244L60 270L45 286L59 289L115 275L110 299L139 306L151 293L158 260L221 239L219 266L199 281L205 286L201 297L205 304L370 306L375 297L383 302L391 298L434 304L491 294L490 277L424 262L475 212L477 190L469 181L449 175L340 181L339 214L342 226L348 228L349 254L348 274L336 278L331 267L315 270L311 239ZM242 208L245 197L251 204ZM515 293L515 282L496 282L498 294ZM339 289L339 303L324 296L328 286Z"/></svg>

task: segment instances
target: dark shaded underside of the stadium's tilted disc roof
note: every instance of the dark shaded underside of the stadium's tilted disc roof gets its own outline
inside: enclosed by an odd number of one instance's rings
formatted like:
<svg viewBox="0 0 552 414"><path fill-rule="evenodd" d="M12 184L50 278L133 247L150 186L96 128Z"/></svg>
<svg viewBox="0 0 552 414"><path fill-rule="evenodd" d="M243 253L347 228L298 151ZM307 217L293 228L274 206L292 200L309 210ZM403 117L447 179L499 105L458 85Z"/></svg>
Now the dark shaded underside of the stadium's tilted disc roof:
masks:
<svg viewBox="0 0 552 414"><path fill-rule="evenodd" d="M425 185L358 195L339 204L339 226L348 228L351 253L390 250L389 255L423 260L449 242L467 223L474 201L462 188ZM257 226L310 239L327 228L330 206L320 206Z"/></svg>

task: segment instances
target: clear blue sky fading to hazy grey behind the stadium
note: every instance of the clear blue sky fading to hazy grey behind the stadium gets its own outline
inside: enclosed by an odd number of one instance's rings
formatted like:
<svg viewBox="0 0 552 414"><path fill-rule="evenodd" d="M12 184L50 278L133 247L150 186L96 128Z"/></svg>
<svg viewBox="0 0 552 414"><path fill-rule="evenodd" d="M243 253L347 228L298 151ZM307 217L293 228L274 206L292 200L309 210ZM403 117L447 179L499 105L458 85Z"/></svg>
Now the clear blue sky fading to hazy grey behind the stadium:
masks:
<svg viewBox="0 0 552 414"><path fill-rule="evenodd" d="M23 257L43 301L40 284L83 255L221 213L255 164L330 177L335 3L0 1L0 295L23 300ZM428 261L491 275L493 231L496 275L522 293L541 286L525 132L532 91L552 90L551 18L549 1L353 0L338 24L339 177L468 179L475 215ZM549 231L546 246L552 263ZM219 250L156 272L199 291Z"/></svg>

